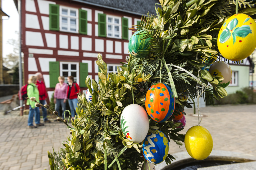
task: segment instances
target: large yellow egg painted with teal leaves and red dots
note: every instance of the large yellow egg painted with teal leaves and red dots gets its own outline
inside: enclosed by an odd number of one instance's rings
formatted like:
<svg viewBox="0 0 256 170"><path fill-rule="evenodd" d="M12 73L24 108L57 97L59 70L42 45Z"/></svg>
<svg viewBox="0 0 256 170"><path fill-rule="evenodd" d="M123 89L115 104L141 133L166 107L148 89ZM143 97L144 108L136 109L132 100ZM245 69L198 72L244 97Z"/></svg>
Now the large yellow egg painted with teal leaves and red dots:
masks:
<svg viewBox="0 0 256 170"><path fill-rule="evenodd" d="M256 23L246 14L228 18L218 34L218 48L228 60L239 61L252 54L256 47Z"/></svg>

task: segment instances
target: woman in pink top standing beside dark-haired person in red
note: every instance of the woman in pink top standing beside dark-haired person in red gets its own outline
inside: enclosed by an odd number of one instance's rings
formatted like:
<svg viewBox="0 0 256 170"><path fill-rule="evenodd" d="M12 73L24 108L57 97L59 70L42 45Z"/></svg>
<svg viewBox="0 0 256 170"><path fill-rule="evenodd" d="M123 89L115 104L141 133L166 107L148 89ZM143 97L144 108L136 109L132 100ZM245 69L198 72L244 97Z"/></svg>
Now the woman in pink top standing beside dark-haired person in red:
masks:
<svg viewBox="0 0 256 170"><path fill-rule="evenodd" d="M59 116L64 120L64 112L66 110L66 100L68 84L64 82L65 78L63 76L58 77L59 83L56 84L54 90L54 103L55 110L59 113ZM62 107L62 116L60 113L60 105Z"/></svg>

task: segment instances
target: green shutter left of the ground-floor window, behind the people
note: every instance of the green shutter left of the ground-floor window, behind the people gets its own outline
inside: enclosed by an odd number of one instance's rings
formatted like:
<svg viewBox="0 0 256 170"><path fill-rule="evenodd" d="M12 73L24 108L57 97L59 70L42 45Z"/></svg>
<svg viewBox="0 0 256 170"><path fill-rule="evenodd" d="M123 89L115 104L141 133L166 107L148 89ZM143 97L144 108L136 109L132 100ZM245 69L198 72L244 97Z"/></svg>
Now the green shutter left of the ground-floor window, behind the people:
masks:
<svg viewBox="0 0 256 170"><path fill-rule="evenodd" d="M50 76L50 88L55 88L59 82L58 77L60 76L60 64L59 62L49 62L49 76Z"/></svg>

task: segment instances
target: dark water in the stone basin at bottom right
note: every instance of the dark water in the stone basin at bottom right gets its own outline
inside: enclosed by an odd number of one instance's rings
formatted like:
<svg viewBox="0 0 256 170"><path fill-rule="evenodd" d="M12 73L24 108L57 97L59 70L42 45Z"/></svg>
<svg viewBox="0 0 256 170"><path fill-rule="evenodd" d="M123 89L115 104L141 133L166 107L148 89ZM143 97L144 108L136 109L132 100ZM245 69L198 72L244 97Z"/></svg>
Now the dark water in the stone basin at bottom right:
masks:
<svg viewBox="0 0 256 170"><path fill-rule="evenodd" d="M226 164L232 164L237 163L235 161L197 161L197 162L191 162L187 164L182 164L179 166L176 166L174 168L171 168L169 170L197 170L197 168L203 168L208 166L217 166L217 165L226 165Z"/></svg>

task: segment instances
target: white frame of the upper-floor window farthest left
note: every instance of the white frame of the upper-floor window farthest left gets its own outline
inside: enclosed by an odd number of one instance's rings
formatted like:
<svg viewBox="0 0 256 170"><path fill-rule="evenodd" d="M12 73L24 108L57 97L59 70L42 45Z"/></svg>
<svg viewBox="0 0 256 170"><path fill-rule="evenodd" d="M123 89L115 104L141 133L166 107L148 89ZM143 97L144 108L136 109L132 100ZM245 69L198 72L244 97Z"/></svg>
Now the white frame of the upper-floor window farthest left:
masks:
<svg viewBox="0 0 256 170"><path fill-rule="evenodd" d="M62 9L67 9L68 10L68 15L64 15L62 14ZM70 10L73 10L73 11L76 11L76 16L70 16ZM79 29L79 22L78 22L78 19L79 19L79 16L78 16L78 9L76 8L70 8L70 7L65 7L65 6L60 6L60 10L59 10L59 13L60 13L60 31L63 31L63 32L73 32L73 33L78 33L78 29ZM68 18L68 30L63 30L62 29L62 17L66 17ZM70 18L74 18L76 19L76 31L70 31Z"/></svg>

